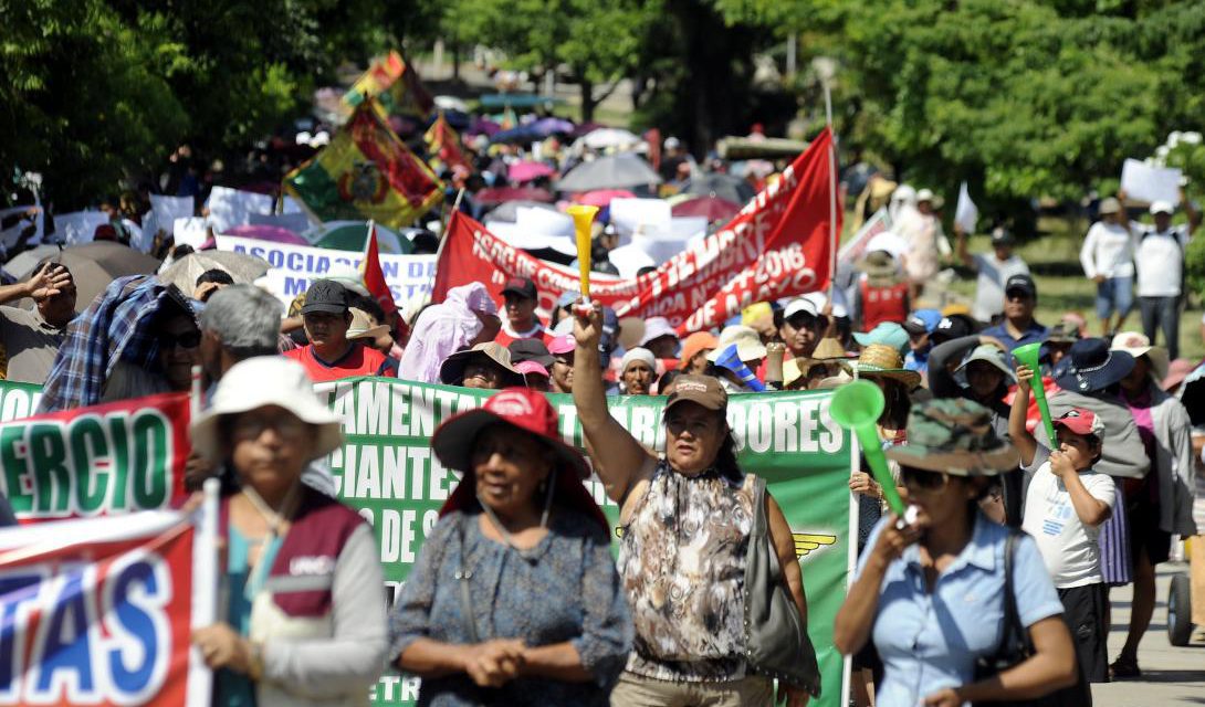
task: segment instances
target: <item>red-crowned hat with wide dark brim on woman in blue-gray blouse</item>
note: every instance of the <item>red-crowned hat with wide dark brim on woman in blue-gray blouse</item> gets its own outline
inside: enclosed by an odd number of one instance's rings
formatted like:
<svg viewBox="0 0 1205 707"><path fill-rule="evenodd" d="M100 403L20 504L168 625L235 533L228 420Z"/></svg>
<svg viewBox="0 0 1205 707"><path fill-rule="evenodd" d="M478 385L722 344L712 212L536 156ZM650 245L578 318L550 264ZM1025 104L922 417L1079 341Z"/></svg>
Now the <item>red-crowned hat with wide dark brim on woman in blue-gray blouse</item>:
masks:
<svg viewBox="0 0 1205 707"><path fill-rule="evenodd" d="M548 399L525 388L500 390L481 407L443 420L431 435L431 449L440 463L464 475L440 508L440 517L469 508L477 502L472 454L477 436L493 425L502 425L509 432L531 435L551 449L557 460L557 469L570 472L556 475L553 501L576 508L602 528L607 526L602 511L582 485L590 475L586 458L560 438L557 431L557 411Z"/></svg>

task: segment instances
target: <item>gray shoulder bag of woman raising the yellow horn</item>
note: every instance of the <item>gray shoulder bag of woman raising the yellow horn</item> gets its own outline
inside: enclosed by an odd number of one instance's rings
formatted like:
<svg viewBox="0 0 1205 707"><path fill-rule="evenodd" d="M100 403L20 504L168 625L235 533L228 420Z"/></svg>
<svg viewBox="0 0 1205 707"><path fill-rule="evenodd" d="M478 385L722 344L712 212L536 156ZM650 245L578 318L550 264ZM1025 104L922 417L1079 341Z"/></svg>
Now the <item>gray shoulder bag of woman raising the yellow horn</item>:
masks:
<svg viewBox="0 0 1205 707"><path fill-rule="evenodd" d="M753 481L753 525L745 560L745 660L751 672L821 694L816 649L770 544L765 479Z"/></svg>

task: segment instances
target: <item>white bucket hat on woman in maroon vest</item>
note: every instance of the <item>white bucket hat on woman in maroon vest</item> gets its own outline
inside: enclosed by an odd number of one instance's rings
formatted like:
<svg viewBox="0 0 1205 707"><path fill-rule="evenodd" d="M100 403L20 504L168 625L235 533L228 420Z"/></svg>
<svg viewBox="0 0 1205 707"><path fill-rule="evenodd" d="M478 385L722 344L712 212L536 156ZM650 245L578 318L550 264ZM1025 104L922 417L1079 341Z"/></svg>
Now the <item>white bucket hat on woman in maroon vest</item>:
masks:
<svg viewBox="0 0 1205 707"><path fill-rule="evenodd" d="M284 357L255 357L235 364L218 382L208 410L190 425L193 449L211 461L222 461L222 418L270 405L317 428L315 459L343 444L339 418L318 400L305 367Z"/></svg>

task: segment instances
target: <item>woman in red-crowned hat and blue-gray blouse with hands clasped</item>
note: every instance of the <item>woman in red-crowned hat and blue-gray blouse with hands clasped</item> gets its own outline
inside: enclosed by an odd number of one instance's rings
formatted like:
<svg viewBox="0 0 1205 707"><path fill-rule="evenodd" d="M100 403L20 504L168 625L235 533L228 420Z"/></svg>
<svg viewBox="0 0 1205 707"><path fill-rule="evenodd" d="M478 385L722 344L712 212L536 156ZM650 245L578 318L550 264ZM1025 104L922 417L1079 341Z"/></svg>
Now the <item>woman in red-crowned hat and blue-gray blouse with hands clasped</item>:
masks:
<svg viewBox="0 0 1205 707"><path fill-rule="evenodd" d="M633 628L586 459L547 397L495 394L431 447L463 471L389 618L421 705L609 702Z"/></svg>

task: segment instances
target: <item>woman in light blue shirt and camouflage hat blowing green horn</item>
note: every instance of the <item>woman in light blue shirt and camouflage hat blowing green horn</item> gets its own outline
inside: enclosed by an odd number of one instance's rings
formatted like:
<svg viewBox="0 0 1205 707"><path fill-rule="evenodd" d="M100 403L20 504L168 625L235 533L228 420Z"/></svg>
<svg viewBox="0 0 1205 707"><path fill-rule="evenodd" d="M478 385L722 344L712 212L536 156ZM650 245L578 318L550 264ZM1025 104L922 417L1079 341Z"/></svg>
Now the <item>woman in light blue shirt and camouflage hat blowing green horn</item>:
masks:
<svg viewBox="0 0 1205 707"><path fill-rule="evenodd" d="M1017 613L1034 655L975 681L975 664L997 653L1004 621L1004 550L1010 530L978 511L989 476L1016 469L1017 454L992 430L991 413L969 400L912 410L899 461L917 518L903 530L893 514L871 534L834 625L845 654L874 640L883 661L880 707L957 707L1022 700L1076 681L1063 605L1033 540L1013 546Z"/></svg>

